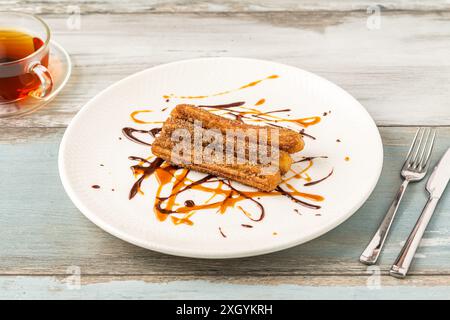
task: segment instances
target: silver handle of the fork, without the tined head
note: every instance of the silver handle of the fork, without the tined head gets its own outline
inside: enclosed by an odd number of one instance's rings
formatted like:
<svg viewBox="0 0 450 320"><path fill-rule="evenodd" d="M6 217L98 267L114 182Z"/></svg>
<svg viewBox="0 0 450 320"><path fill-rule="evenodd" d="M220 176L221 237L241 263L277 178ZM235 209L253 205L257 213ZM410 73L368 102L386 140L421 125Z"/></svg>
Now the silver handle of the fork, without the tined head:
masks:
<svg viewBox="0 0 450 320"><path fill-rule="evenodd" d="M378 230L375 232L372 240L370 240L364 252L359 257L359 261L364 264L372 265L375 264L380 256L381 250L383 248L384 241L386 240L387 234L389 233L389 229L391 228L392 221L394 221L395 214L397 212L398 207L400 206L400 202L402 201L403 195L405 194L405 190L408 187L409 180L403 180L400 188L395 195L394 200L392 201L389 210L383 218Z"/></svg>

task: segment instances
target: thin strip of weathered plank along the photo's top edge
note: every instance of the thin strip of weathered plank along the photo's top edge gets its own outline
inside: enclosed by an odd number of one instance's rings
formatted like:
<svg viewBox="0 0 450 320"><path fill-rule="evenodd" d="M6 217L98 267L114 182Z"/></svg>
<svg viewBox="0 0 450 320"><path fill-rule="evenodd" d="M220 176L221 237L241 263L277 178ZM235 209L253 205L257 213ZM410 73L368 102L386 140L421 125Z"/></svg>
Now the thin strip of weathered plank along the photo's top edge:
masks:
<svg viewBox="0 0 450 320"><path fill-rule="evenodd" d="M142 12L261 12L261 11L353 11L366 10L375 4L385 10L448 10L446 0L4 0L2 10L18 10L32 13L67 13L77 6L88 13L142 13Z"/></svg>

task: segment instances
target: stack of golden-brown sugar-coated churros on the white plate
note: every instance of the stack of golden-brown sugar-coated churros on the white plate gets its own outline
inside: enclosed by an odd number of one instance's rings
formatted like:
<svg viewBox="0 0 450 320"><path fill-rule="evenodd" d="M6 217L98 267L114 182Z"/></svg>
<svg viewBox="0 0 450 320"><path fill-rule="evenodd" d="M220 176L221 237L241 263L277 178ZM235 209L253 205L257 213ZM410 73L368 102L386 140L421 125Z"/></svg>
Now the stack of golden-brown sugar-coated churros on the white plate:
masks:
<svg viewBox="0 0 450 320"><path fill-rule="evenodd" d="M252 136L232 136L230 140L228 134L233 130ZM262 130L270 133L265 144L258 139ZM271 140L274 130L278 130L278 143ZM200 141L196 141L197 136L201 137ZM290 143L282 139L288 139ZM233 149L228 152L230 141ZM183 148L181 142L188 143L187 147ZM292 159L286 150L301 148L303 140L294 131L247 125L190 105L179 105L172 111L152 144L153 154L175 165L225 177L263 191L274 190L281 182L281 175L289 170ZM257 151L260 151L258 157L252 159Z"/></svg>

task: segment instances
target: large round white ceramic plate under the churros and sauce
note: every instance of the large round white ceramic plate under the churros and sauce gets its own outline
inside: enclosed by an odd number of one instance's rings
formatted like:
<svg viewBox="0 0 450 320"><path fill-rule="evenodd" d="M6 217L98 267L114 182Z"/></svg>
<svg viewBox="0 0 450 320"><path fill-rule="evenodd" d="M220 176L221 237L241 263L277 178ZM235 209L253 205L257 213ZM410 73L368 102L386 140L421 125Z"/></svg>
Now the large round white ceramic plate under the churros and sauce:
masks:
<svg viewBox="0 0 450 320"><path fill-rule="evenodd" d="M214 95L270 75L278 78ZM166 102L163 96L170 93L212 96L172 97ZM318 203L320 209L305 208L283 196L271 196L261 199L266 214L260 222L249 220L235 208L225 214L201 211L191 217L192 226L175 225L171 219L159 221L153 212L157 188L154 176L144 181L144 195L128 199L136 180L129 169L135 162L128 156L148 157L151 151L123 138L121 129L148 130L156 126L134 123L130 117L133 111L150 109L153 112L138 117L164 121L178 103L211 105L245 101L246 106L253 107L260 99L265 99L265 103L255 108L262 111L290 108L290 115L286 116L291 119L321 117L318 124L306 128L316 140L305 137L305 149L294 155L296 159L328 157L314 160L308 171L312 180L318 180L333 170L328 179L308 187L304 186L304 180L295 182L300 191L325 198ZM166 107L167 110L161 111ZM292 123L286 124L298 129ZM60 147L59 170L75 205L105 231L168 254L232 258L292 247L336 227L366 201L379 178L382 160L382 143L373 120L358 101L333 83L301 69L268 61L206 58L154 67L99 93L67 128ZM305 163L296 164L296 170L301 170ZM93 185L100 188L94 189ZM189 197L197 203L203 201L204 195L192 191Z"/></svg>

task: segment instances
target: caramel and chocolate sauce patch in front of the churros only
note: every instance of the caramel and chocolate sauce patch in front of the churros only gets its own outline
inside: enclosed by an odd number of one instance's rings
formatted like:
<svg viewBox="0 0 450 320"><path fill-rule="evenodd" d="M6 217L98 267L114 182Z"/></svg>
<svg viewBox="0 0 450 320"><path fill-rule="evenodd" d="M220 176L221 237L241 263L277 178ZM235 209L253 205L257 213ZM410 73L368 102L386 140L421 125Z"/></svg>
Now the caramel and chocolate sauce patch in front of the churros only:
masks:
<svg viewBox="0 0 450 320"><path fill-rule="evenodd" d="M192 225L191 217L198 211L216 209L216 212L224 214L230 208L237 208L249 220L258 222L265 216L264 206L260 201L255 199L261 197L286 196L297 204L310 209L320 209L320 206L301 200L299 197L313 202L324 201L323 196L301 192L288 183L292 179L304 179L308 181L305 173L313 166L313 157L302 159L301 162L307 161L308 163L301 171L297 172L291 169L293 175L282 182L288 190L278 187L272 192L239 190L232 185L230 180L214 175L206 175L199 180L192 180L189 177L189 169L173 166L160 158L155 158L153 161L141 157L129 157L129 159L139 161L138 164L131 167L138 179L130 190L129 199L136 196L138 192L142 193L142 182L152 174L155 175L158 188L153 211L159 221L164 221L168 216L171 216L172 222L176 225ZM316 183L319 182L321 181L317 181ZM212 183L216 183L216 185L211 186L210 184ZM166 194L163 194L163 190L167 190L167 188L170 188L170 192L167 194L166 191ZM186 200L184 205L178 204L177 197L188 190L204 192L209 194L210 197L201 204L195 204L192 200ZM212 202L217 197L219 199ZM250 213L248 209L244 209L240 205L244 201L252 202L257 212Z"/></svg>

